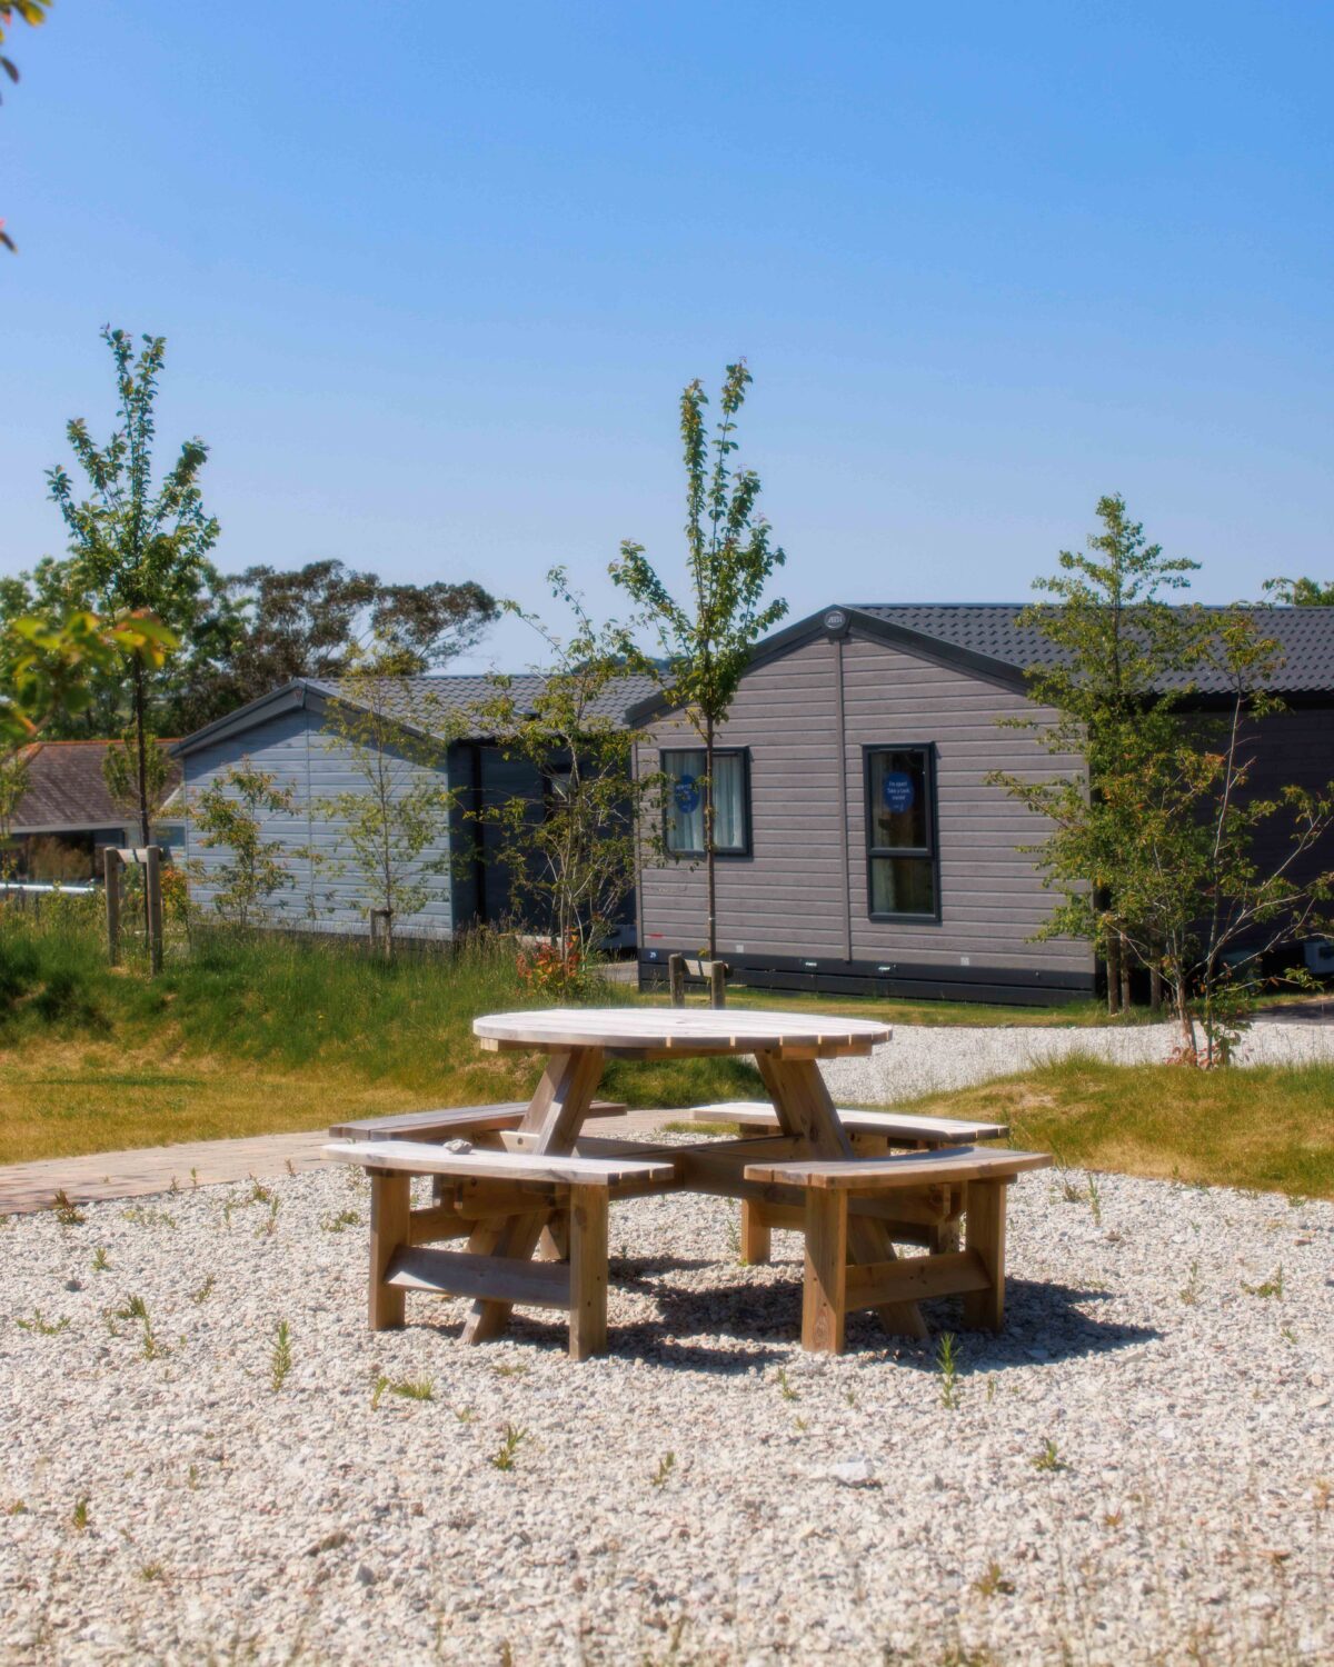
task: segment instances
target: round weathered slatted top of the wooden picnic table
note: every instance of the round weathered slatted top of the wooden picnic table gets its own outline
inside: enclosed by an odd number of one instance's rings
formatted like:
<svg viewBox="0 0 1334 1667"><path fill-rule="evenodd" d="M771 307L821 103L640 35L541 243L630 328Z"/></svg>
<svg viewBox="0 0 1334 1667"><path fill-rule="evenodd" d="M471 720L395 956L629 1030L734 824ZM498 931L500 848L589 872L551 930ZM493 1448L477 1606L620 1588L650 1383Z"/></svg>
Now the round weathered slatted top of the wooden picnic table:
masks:
<svg viewBox="0 0 1334 1667"><path fill-rule="evenodd" d="M474 1034L509 1047L602 1047L667 1054L814 1052L869 1054L889 1025L832 1014L769 1014L745 1007L547 1007L530 1014L485 1014Z"/></svg>

